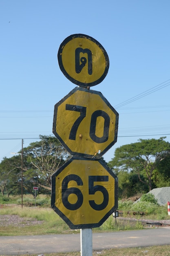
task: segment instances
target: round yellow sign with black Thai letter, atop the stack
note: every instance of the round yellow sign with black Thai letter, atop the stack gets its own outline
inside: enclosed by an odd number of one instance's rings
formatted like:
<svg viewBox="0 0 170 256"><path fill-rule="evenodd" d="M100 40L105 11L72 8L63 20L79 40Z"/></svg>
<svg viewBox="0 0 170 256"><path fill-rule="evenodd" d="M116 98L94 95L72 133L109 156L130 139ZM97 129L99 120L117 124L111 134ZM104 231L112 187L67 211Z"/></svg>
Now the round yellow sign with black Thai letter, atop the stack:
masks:
<svg viewBox="0 0 170 256"><path fill-rule="evenodd" d="M104 47L91 36L74 34L60 45L58 62L63 74L73 83L93 86L108 73L109 59Z"/></svg>

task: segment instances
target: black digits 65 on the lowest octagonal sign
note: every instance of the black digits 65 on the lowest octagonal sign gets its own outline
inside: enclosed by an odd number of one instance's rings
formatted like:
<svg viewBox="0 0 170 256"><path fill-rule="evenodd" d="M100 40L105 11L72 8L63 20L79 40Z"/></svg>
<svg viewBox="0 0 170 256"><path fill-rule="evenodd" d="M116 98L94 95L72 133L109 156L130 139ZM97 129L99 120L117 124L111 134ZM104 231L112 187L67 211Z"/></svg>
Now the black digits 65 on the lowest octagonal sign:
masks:
<svg viewBox="0 0 170 256"><path fill-rule="evenodd" d="M75 174L70 174L66 176L62 181L62 203L64 204L64 207L66 207L68 210L77 210L79 209L83 204L83 194L80 189L75 187L68 188L68 182L75 181L78 186L83 186L82 179ZM101 204L96 204L95 200L89 200L89 204L91 208L93 208L96 211L101 211L106 208L108 205L108 191L104 186L101 185L95 185L94 182L108 182L108 176L107 175L94 175L94 176L88 176L88 194L94 195L97 191L100 191L103 194L103 202ZM77 196L77 201L75 203L71 203L68 200L69 195L75 194Z"/></svg>

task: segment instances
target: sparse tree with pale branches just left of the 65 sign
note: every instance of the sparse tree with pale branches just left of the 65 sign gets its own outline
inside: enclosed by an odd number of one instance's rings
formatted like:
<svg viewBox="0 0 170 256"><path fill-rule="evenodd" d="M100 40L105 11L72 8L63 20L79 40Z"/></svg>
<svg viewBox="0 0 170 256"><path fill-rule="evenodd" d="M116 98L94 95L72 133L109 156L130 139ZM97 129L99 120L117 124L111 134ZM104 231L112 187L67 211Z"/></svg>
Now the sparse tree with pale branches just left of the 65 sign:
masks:
<svg viewBox="0 0 170 256"><path fill-rule="evenodd" d="M39 193L51 191L51 175L70 156L60 142L53 136L40 135L40 141L33 142L24 148L25 187L32 193L33 186L39 186Z"/></svg>

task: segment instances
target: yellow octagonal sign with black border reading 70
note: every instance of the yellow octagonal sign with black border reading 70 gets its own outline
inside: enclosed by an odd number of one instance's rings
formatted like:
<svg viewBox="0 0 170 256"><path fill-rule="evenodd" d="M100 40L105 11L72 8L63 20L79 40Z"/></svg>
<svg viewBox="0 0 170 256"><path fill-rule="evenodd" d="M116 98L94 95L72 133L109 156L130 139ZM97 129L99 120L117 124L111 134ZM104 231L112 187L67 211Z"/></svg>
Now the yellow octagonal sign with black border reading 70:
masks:
<svg viewBox="0 0 170 256"><path fill-rule="evenodd" d="M117 141L118 117L101 92L77 87L55 105L53 133L71 155L100 158Z"/></svg>

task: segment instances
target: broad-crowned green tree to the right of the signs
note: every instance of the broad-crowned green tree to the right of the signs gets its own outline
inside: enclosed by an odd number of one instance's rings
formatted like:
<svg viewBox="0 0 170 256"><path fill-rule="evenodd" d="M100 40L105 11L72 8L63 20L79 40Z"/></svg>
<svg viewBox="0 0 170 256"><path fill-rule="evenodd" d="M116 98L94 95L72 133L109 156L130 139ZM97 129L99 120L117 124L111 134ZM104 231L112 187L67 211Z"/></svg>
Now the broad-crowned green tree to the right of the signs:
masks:
<svg viewBox="0 0 170 256"><path fill-rule="evenodd" d="M140 182L152 190L153 175L160 162L170 155L170 143L160 139L139 139L138 142L116 148L115 157L108 163L110 168L137 173ZM142 179L145 176L146 179Z"/></svg>

